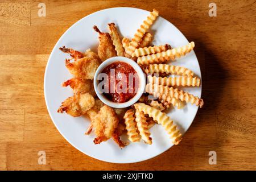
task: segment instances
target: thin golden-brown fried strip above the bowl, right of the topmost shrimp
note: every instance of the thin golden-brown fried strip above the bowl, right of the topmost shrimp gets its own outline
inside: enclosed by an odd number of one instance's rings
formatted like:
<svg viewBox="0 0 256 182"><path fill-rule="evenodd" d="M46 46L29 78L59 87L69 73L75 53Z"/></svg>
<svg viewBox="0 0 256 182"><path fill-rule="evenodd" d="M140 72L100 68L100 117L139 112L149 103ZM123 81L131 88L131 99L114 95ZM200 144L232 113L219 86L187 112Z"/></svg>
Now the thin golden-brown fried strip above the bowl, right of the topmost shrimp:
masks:
<svg viewBox="0 0 256 182"><path fill-rule="evenodd" d="M122 47L121 38L118 34L117 27L114 23L109 23L110 36L115 46L115 51L117 51L117 56L124 56L124 51Z"/></svg>

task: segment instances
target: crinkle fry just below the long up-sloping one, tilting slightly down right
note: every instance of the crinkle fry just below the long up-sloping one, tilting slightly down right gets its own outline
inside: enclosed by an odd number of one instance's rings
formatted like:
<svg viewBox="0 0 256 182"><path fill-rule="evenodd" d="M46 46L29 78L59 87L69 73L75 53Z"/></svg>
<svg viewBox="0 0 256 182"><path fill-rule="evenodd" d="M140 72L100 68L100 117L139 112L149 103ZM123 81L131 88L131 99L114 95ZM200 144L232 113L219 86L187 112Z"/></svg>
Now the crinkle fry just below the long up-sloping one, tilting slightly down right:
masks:
<svg viewBox="0 0 256 182"><path fill-rule="evenodd" d="M167 73L171 75L194 76L190 69L169 64L149 64L146 73Z"/></svg>

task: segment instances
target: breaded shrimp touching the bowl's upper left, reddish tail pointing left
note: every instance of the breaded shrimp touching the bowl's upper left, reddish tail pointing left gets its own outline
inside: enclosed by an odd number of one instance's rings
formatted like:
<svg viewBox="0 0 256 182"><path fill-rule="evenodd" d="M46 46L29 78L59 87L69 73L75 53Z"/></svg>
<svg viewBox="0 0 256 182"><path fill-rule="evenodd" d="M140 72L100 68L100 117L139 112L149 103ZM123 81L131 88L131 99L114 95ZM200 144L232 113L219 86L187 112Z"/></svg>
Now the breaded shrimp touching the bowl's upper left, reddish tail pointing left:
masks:
<svg viewBox="0 0 256 182"><path fill-rule="evenodd" d="M100 65L100 61L86 56L73 61L72 63L70 60L66 59L65 65L68 68L68 71L76 78L93 80L94 74Z"/></svg>

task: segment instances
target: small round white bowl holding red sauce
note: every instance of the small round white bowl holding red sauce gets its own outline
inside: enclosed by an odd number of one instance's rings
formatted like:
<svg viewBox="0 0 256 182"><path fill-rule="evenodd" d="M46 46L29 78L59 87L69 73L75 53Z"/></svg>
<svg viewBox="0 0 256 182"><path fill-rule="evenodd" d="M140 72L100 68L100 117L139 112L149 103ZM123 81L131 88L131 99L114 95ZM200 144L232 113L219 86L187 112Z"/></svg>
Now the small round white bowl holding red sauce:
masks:
<svg viewBox="0 0 256 182"><path fill-rule="evenodd" d="M139 76L138 92L129 101L123 102L123 103L117 103L117 102L113 102L113 101L108 100L108 98L106 98L103 94L98 92L98 89L97 89L98 74L100 74L103 71L103 69L106 68L108 65L110 65L110 64L112 64L116 61L124 62L124 63L127 63L127 64L131 65L131 67L134 68L134 70L138 73L138 76ZM129 107L129 106L133 105L135 102L137 102L139 100L139 98L141 98L141 96L144 92L145 86L146 86L146 78L145 78L145 75L144 75L141 67L139 67L139 65L135 61L133 61L133 60L127 58L127 57L122 57L122 56L110 57L109 59L107 59L103 63L101 63L101 65L98 67L98 69L97 69L97 71L94 75L93 86L94 86L94 90L95 90L98 98L100 98L100 100L104 104L106 104L110 107L114 107L114 108L125 108L125 107Z"/></svg>

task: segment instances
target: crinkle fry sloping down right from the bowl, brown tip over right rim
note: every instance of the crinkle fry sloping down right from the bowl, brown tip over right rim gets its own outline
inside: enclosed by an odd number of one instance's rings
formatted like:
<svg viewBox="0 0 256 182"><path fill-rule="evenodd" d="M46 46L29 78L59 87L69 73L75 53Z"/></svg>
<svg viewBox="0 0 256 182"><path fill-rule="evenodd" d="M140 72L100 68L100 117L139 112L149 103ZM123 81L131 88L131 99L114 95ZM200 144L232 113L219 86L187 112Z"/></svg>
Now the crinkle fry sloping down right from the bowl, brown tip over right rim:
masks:
<svg viewBox="0 0 256 182"><path fill-rule="evenodd" d="M196 96L193 96L192 94L189 94L188 92L184 92L183 90L174 89L172 87L158 85L158 84L147 84L146 85L146 92L150 94L156 94L156 97L159 96L159 98L170 97L175 98L177 100L190 102L191 104L195 104L196 106L203 107L204 101L201 98L198 98Z"/></svg>

